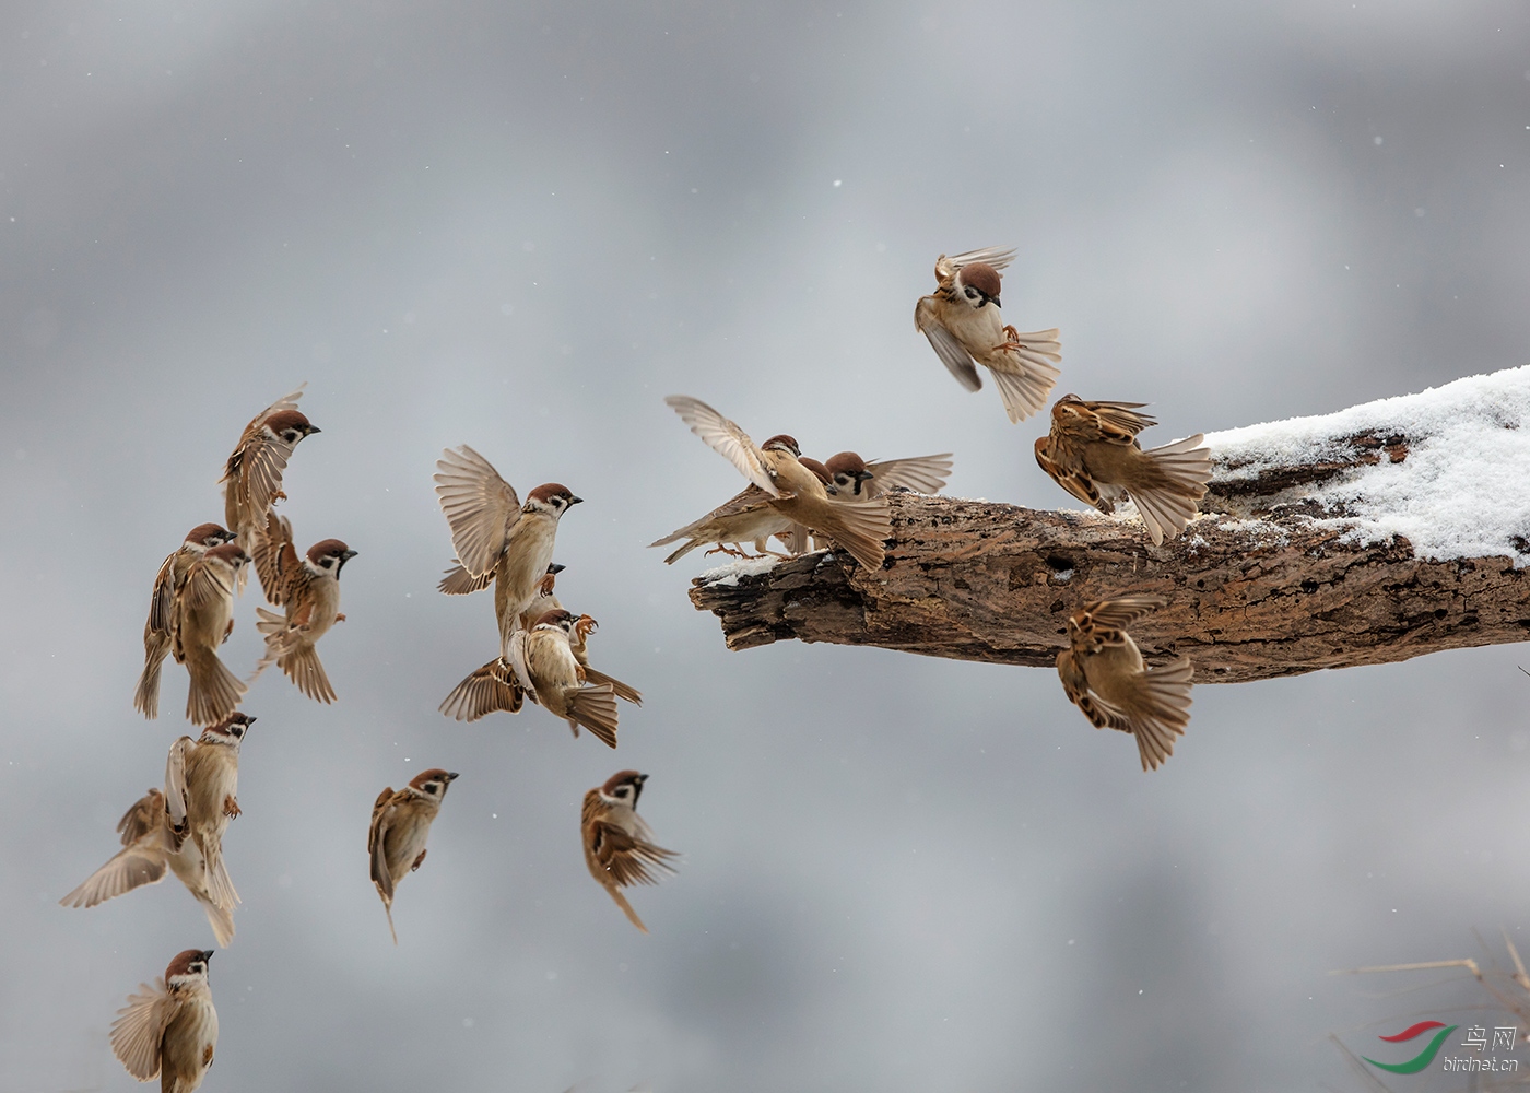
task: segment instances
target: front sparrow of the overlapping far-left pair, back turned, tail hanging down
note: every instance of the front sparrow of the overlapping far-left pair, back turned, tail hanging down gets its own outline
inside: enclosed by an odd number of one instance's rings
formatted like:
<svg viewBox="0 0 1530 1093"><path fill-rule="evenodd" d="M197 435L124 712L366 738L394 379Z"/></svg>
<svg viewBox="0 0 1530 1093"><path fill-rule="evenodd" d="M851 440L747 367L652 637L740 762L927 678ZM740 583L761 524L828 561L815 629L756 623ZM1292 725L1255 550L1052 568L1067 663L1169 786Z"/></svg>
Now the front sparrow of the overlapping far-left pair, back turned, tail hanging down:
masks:
<svg viewBox="0 0 1530 1093"><path fill-rule="evenodd" d="M234 586L248 560L237 542L210 546L191 562L170 609L170 652L191 677L187 719L196 726L222 721L245 697L217 648L234 632Z"/></svg>

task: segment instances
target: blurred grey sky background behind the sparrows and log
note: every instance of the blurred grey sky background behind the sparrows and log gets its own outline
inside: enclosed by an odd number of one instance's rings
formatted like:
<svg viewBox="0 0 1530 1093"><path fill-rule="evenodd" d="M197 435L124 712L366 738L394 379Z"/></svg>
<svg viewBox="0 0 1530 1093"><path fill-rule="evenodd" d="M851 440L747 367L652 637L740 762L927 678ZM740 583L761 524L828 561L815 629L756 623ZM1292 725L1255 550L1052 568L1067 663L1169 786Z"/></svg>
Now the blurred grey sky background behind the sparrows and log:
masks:
<svg viewBox="0 0 1530 1093"><path fill-rule="evenodd" d="M243 707L207 1088L1349 1088L1330 1032L1472 995L1328 969L1530 922L1524 649L1200 687L1144 776L1051 672L728 654L707 563L643 548L741 485L661 398L1073 507L913 332L938 253L1019 246L1059 393L1161 442L1527 363L1527 168L1518 3L6 6L0 1090L136 1088L116 1007L211 945L174 880L57 900L187 730L173 664L130 706L155 569L304 380L283 511L360 557L340 701ZM461 442L588 501L558 592L644 690L618 752L436 713L494 651L433 591ZM395 949L367 819L428 765ZM685 854L650 937L580 856L621 767Z"/></svg>

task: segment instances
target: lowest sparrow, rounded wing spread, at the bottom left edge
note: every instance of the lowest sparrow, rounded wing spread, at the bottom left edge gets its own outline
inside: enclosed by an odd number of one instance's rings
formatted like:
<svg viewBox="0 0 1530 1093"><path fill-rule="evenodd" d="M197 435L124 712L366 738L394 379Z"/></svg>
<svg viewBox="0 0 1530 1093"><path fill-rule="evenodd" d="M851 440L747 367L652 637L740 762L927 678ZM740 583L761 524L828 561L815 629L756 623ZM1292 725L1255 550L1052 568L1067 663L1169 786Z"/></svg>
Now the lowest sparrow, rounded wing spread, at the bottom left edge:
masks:
<svg viewBox="0 0 1530 1093"><path fill-rule="evenodd" d="M211 949L187 949L165 978L138 984L112 1023L112 1052L141 1082L159 1078L162 1093L193 1093L213 1065L217 1010L207 983Z"/></svg>

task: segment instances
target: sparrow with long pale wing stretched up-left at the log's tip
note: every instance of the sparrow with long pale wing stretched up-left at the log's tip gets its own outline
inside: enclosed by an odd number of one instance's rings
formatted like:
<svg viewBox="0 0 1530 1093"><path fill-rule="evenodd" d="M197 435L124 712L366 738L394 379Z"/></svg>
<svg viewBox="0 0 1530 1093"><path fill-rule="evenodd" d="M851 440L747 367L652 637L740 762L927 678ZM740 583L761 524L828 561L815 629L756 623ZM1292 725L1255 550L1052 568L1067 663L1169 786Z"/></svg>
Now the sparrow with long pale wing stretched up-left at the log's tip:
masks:
<svg viewBox="0 0 1530 1093"><path fill-rule="evenodd" d="M672 395L664 400L690 430L725 456L754 485L770 494L768 505L794 524L814 528L843 546L868 569L880 569L883 540L892 536L886 499L829 499L817 473L805 467L797 441L785 433L756 445L742 429L701 400Z"/></svg>

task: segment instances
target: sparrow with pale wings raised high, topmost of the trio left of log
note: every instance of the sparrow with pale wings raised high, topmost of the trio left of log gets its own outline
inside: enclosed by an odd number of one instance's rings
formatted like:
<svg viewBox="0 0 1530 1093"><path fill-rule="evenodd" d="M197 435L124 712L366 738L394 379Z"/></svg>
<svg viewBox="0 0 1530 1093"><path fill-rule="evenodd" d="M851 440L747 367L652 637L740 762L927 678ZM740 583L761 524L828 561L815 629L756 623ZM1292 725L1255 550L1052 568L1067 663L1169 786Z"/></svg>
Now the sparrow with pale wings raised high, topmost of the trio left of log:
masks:
<svg viewBox="0 0 1530 1093"><path fill-rule="evenodd" d="M436 494L451 528L457 565L447 569L439 588L448 595L476 592L494 585L500 654L519 629L520 614L537 595L537 586L552 563L558 520L583 498L568 487L545 482L526 494L499 476L488 459L464 444L436 461Z"/></svg>

